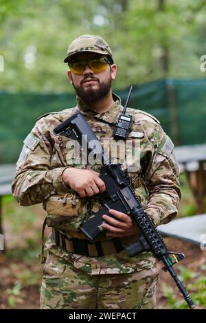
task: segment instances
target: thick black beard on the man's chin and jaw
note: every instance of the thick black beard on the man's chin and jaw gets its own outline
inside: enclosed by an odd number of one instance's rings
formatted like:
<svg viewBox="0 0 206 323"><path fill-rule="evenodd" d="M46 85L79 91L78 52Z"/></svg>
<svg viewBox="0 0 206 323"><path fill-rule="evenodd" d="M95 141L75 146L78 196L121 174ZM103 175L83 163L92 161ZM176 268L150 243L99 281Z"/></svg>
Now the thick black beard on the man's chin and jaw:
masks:
<svg viewBox="0 0 206 323"><path fill-rule="evenodd" d="M105 96L108 95L109 91L111 90L111 78L107 82L99 83L99 89L91 89L88 88L87 90L82 89L82 87L74 87L76 90L77 96L89 106L89 104L98 102L102 100Z"/></svg>

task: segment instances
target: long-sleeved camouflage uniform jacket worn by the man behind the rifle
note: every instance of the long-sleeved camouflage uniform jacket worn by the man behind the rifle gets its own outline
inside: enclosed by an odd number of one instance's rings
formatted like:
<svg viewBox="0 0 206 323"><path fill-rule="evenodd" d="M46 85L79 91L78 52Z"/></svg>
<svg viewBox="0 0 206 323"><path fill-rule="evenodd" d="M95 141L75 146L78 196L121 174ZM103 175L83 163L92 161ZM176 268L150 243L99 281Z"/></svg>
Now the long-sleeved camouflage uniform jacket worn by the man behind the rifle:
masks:
<svg viewBox="0 0 206 323"><path fill-rule="evenodd" d="M16 175L12 192L20 205L43 203L47 211L47 225L55 227L69 237L85 239L79 226L92 212L100 208L98 196L81 199L78 194L65 186L62 172L69 166L82 168L80 156L73 157L73 147L67 137L54 135L53 129L73 113L81 111L89 122L100 142L103 143L113 161L124 162L128 150L133 151L135 144L135 171L129 172L135 194L155 225L168 223L177 214L181 192L179 188L179 168L174 157L170 138L163 132L159 121L144 111L127 109L133 115L133 128L128 136L130 142L126 153L115 153L113 130L115 120L122 111L121 102L113 94L115 104L109 111L97 113L86 107L78 98L78 105L57 113L49 113L40 118L32 132L24 141L23 151L17 161ZM115 141L114 141L115 142ZM138 153L137 153L138 151ZM124 156L123 156L124 155ZM96 165L87 168L99 170ZM75 201L75 203L72 203ZM75 204L75 205L73 205ZM96 241L108 240L104 233ZM137 241L137 237L122 238L125 246ZM80 256L62 251L49 238L47 248L54 254L65 258L74 267L81 268L91 275L126 274L139 272L139 278L156 271L155 259L149 252L129 258L125 251L101 257Z"/></svg>

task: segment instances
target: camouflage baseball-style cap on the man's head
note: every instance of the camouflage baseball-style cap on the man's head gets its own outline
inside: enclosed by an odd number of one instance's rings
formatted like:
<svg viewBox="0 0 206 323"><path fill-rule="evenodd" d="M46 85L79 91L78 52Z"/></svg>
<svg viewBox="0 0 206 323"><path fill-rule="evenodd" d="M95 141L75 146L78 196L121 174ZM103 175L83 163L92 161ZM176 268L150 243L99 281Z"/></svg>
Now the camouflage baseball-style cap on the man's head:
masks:
<svg viewBox="0 0 206 323"><path fill-rule="evenodd" d="M98 35L82 35L74 39L67 49L67 57L64 62L68 63L71 56L79 52L93 52L108 55L111 58L111 63L113 63L111 48L106 41Z"/></svg>

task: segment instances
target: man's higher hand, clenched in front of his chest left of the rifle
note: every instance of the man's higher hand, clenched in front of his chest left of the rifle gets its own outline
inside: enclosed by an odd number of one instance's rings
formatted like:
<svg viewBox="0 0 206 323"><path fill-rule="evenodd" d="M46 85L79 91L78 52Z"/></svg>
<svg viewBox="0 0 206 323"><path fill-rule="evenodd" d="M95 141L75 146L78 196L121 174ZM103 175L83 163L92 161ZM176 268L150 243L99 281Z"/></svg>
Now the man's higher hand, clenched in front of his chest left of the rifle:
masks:
<svg viewBox="0 0 206 323"><path fill-rule="evenodd" d="M94 170L69 167L62 172L62 181L80 197L92 197L106 190L100 174Z"/></svg>

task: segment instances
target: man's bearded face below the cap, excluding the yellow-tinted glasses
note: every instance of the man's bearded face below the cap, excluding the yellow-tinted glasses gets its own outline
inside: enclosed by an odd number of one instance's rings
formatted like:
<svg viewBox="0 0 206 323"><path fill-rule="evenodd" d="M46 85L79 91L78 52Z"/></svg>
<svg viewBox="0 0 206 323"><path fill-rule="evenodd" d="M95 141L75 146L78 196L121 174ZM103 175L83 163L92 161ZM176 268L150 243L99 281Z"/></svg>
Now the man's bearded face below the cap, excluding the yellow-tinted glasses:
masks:
<svg viewBox="0 0 206 323"><path fill-rule="evenodd" d="M72 60L98 59L100 54L84 52L76 54ZM71 84L76 90L77 95L84 103L90 104L98 102L111 91L111 82L116 76L116 65L107 65L106 70L95 73L89 65L82 71L82 74L75 74L68 71Z"/></svg>

